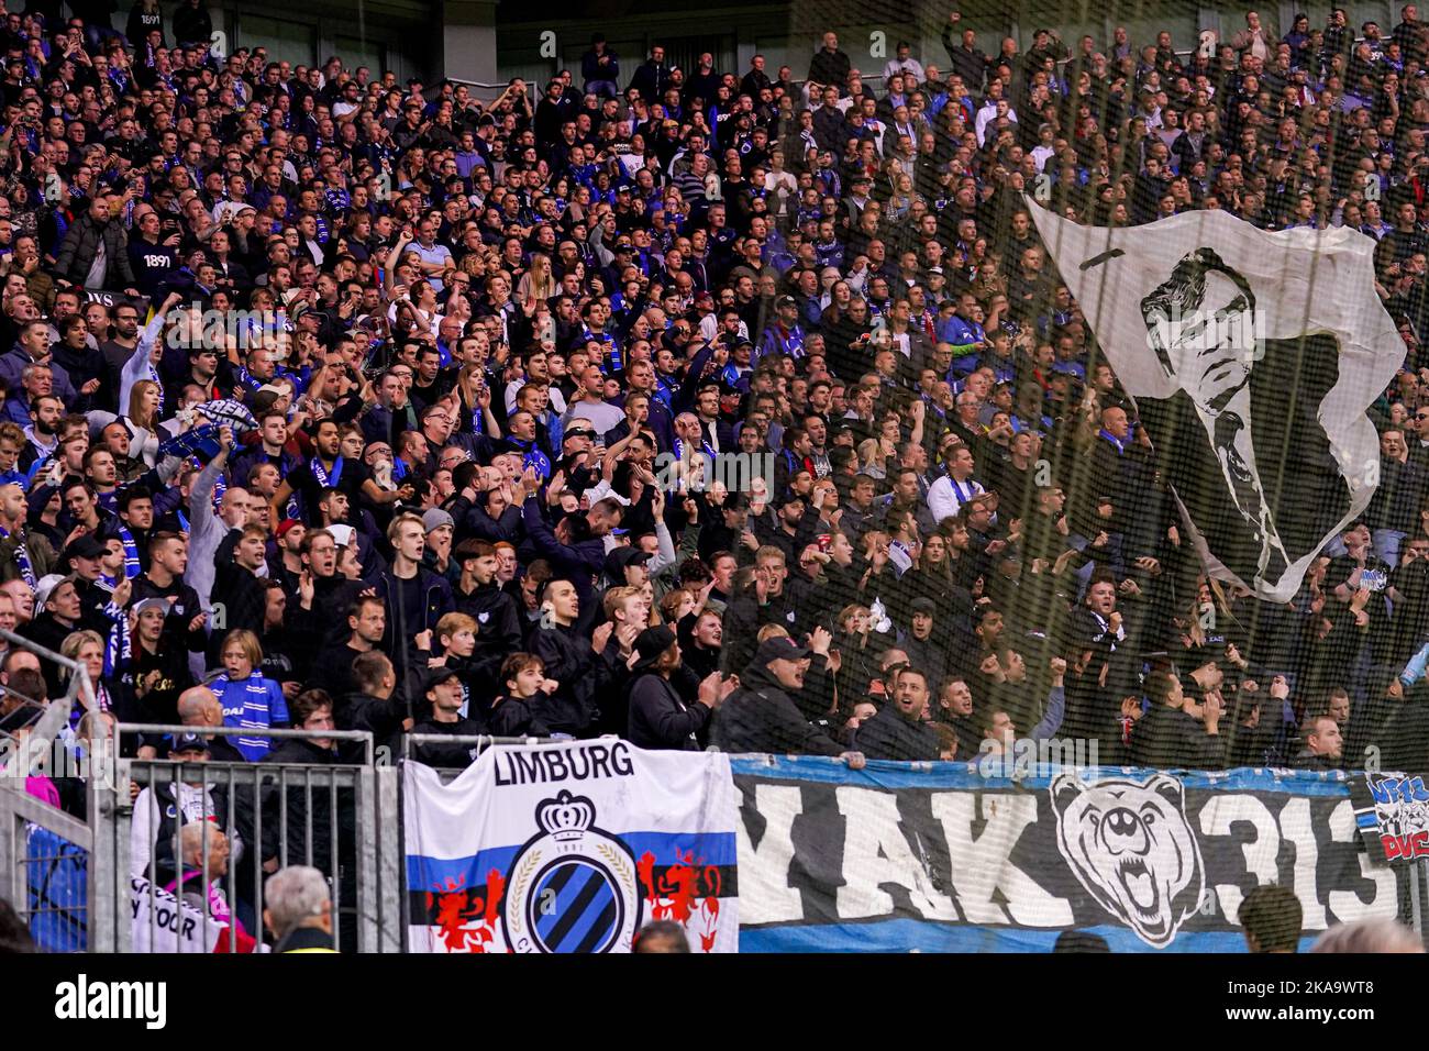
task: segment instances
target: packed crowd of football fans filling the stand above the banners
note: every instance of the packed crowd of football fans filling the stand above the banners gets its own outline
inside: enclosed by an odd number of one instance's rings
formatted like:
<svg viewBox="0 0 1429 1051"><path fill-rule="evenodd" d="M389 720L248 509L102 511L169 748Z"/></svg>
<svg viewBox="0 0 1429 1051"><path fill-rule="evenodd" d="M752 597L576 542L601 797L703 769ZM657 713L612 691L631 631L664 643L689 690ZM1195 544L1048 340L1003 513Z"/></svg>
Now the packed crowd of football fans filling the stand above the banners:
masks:
<svg viewBox="0 0 1429 1051"><path fill-rule="evenodd" d="M1415 7L1027 50L955 13L882 77L832 31L806 70L597 37L489 103L211 54L201 0L50 7L0 27L0 628L86 665L77 742L1422 765ZM1292 602L1206 579L1032 200L1378 240L1383 482ZM9 735L66 688L0 681Z"/></svg>

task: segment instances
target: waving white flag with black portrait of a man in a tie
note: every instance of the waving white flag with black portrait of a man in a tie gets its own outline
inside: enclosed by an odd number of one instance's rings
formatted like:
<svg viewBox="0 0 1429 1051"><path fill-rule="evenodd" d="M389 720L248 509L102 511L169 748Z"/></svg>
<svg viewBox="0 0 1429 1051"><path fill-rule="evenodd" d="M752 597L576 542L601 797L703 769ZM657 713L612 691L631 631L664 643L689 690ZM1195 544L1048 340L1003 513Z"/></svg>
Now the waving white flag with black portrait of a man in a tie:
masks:
<svg viewBox="0 0 1429 1051"><path fill-rule="evenodd" d="M1219 212L1079 226L1029 203L1208 571L1285 602L1379 483L1366 416L1405 357L1375 242Z"/></svg>

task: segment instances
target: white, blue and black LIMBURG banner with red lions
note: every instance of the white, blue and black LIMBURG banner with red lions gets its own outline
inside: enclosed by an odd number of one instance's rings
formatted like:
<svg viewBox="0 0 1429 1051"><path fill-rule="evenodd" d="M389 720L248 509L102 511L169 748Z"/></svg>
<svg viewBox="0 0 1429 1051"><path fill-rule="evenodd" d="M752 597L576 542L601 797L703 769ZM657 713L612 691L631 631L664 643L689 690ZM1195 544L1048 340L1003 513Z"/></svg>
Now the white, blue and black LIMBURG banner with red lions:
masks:
<svg viewBox="0 0 1429 1051"><path fill-rule="evenodd" d="M404 765L413 952L629 952L653 919L736 952L729 756L602 738Z"/></svg>

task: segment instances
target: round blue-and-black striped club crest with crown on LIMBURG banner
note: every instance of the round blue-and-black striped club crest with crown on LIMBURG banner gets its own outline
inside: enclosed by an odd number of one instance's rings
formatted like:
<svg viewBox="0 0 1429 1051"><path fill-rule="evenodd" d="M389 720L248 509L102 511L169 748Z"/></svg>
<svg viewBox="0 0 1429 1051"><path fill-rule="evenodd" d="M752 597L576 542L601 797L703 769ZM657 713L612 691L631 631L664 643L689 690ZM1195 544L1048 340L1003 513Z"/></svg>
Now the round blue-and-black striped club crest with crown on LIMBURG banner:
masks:
<svg viewBox="0 0 1429 1051"><path fill-rule="evenodd" d="M536 806L542 831L512 861L502 912L516 952L612 952L630 948L643 901L634 855L594 827L596 806L562 791Z"/></svg>

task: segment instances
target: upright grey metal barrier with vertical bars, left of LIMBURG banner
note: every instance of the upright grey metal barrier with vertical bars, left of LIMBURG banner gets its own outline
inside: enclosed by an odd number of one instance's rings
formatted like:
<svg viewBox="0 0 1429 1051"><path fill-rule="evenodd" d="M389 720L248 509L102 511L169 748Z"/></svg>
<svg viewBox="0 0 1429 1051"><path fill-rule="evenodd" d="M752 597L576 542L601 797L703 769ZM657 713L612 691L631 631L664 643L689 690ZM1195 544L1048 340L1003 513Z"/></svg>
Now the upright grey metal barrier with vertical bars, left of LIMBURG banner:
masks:
<svg viewBox="0 0 1429 1051"><path fill-rule="evenodd" d="M237 735L231 726L121 724L119 731ZM242 932L262 939L267 877L287 865L310 865L327 878L339 951L399 949L397 779L394 768L373 766L372 735L252 728L242 735L359 742L363 762L127 761L123 782L134 785L133 802L123 791L106 825L116 841L116 864L97 882L101 897L130 899L136 921L120 925L114 942L99 948L206 951L216 941L217 951L236 951ZM204 832L194 837L197 848L184 844L181 829L197 822L216 825L223 838ZM197 898L187 938L161 929L166 907L177 914L183 904L167 901L166 892Z"/></svg>

